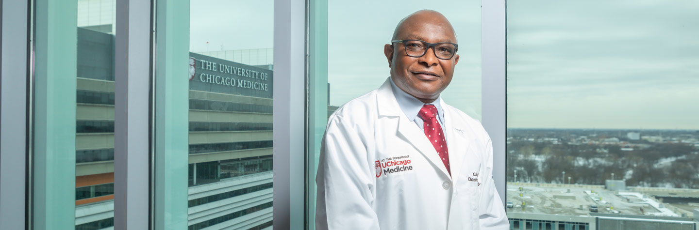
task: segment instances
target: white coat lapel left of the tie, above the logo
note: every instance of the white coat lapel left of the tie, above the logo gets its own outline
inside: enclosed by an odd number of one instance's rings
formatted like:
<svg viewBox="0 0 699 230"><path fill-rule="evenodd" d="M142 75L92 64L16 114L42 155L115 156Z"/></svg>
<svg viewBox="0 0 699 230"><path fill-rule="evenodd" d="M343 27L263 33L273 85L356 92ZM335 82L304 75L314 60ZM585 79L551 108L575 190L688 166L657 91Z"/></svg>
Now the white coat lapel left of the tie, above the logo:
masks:
<svg viewBox="0 0 699 230"><path fill-rule="evenodd" d="M445 167L444 163L442 163L442 160L439 158L439 154L435 150L435 147L432 146L429 139L425 137L425 133L420 130L415 123L408 121L408 117L400 117L400 121L398 121L398 133L403 135L403 137L405 137L405 139L408 140L412 146L417 148L417 151L422 153L422 155L424 155L429 162L440 169L445 176L449 177L447 167Z"/></svg>

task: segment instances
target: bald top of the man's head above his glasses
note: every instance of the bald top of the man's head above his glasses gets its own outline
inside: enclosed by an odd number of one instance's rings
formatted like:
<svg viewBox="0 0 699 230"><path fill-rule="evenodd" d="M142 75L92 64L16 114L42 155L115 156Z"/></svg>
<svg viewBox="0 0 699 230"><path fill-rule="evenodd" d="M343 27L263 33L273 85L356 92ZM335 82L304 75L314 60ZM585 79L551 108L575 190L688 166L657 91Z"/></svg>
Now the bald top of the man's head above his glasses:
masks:
<svg viewBox="0 0 699 230"><path fill-rule="evenodd" d="M412 29L414 29L416 26L426 26L426 24L431 26L440 26L447 29L454 37L454 40L450 42L456 43L456 32L454 31L454 27L449 20L447 20L447 17L444 17L444 15L435 10L418 10L417 12L408 15L408 17L404 17L403 20L398 22L398 25L396 25L396 30L394 30L394 36L391 38L391 40L405 39L405 37L411 35L421 37L419 34L410 34L410 31L412 31Z"/></svg>

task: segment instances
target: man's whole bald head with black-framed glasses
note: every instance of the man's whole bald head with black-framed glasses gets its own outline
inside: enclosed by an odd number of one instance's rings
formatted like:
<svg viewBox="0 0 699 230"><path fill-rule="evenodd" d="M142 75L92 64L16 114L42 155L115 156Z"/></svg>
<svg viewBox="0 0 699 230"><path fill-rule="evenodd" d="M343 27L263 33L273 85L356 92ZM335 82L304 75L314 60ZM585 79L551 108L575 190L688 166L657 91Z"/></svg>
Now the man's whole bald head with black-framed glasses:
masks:
<svg viewBox="0 0 699 230"><path fill-rule="evenodd" d="M403 40L394 42L393 40ZM419 45L409 40L421 40ZM428 45L429 43L432 45ZM419 10L398 22L391 43L384 45L384 55L391 68L391 79L399 89L421 102L431 103L439 98L454 77L459 63L458 47L449 49L444 43L456 45L454 27L444 15L434 10ZM428 46L425 46L428 45ZM419 49L423 48L421 56ZM408 50L411 54L408 54ZM452 55L446 59L444 55Z"/></svg>

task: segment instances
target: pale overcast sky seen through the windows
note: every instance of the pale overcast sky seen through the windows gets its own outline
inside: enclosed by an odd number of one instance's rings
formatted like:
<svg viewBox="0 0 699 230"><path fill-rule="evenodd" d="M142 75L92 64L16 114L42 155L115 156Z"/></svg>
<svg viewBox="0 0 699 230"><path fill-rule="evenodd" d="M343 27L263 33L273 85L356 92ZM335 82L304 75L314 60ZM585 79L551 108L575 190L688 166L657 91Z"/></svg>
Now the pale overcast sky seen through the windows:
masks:
<svg viewBox="0 0 699 230"><path fill-rule="evenodd" d="M273 47L272 0L191 4L190 49ZM383 45L399 20L424 8L444 14L459 40L442 98L481 118L473 0L330 1L331 105L387 79ZM507 127L699 130L697 12L693 0L507 1Z"/></svg>

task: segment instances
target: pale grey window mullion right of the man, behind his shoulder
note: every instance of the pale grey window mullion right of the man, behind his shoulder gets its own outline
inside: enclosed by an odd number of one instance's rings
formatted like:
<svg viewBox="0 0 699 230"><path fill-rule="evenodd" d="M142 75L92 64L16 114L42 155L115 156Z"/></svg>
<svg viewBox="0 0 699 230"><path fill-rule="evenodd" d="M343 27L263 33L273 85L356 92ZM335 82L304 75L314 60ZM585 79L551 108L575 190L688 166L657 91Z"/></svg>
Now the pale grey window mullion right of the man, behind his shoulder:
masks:
<svg viewBox="0 0 699 230"><path fill-rule="evenodd" d="M505 202L507 135L505 0L481 1L482 124L493 144L493 179Z"/></svg>

